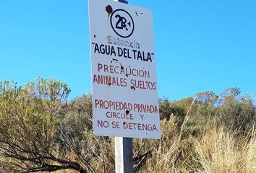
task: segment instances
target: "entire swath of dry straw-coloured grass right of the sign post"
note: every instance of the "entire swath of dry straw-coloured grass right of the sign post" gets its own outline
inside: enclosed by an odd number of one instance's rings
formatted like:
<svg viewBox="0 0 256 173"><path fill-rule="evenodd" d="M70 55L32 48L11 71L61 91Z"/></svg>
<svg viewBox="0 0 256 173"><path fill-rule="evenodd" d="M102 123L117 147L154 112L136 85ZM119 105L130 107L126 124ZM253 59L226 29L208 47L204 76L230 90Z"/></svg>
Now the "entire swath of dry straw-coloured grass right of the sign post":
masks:
<svg viewBox="0 0 256 173"><path fill-rule="evenodd" d="M167 124L163 127L173 130ZM172 136L168 143L161 141L142 172L256 172L254 130L246 137L237 137L236 132L223 129L214 126L200 137L180 140Z"/></svg>

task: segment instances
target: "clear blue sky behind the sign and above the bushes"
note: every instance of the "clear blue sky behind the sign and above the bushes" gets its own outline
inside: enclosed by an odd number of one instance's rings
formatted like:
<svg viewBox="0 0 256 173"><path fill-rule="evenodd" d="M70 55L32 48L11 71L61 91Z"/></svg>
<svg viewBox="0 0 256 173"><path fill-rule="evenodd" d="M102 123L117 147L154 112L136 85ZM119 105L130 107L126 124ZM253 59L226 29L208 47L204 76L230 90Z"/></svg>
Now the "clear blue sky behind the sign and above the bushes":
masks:
<svg viewBox="0 0 256 173"><path fill-rule="evenodd" d="M153 11L158 95L237 86L256 97L255 0L130 0ZM90 92L88 1L0 0L0 81L66 81Z"/></svg>

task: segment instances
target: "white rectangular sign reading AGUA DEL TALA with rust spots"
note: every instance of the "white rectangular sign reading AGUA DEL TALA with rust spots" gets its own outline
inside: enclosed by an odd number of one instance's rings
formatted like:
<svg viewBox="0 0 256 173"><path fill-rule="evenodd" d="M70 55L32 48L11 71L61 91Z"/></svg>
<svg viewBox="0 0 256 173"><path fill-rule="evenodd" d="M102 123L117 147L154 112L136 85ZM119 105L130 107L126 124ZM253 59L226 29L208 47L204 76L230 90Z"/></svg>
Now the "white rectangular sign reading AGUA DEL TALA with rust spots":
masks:
<svg viewBox="0 0 256 173"><path fill-rule="evenodd" d="M161 138L152 12L89 0L89 13L95 135Z"/></svg>

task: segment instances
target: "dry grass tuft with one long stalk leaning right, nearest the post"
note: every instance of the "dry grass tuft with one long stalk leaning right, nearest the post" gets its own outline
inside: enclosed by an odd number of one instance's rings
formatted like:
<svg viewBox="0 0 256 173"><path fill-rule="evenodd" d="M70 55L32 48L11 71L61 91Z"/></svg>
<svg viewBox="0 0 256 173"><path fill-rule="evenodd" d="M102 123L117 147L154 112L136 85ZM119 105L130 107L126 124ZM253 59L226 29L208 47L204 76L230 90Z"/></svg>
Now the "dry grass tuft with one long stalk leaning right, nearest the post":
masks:
<svg viewBox="0 0 256 173"><path fill-rule="evenodd" d="M158 148L154 148L153 156L145 165L145 172L188 172L187 162L192 155L191 138L182 140L184 127L189 119L189 111L195 104L192 101L181 128L176 124L176 116L171 115L169 120L161 120L162 138Z"/></svg>

